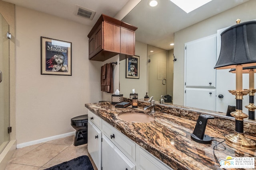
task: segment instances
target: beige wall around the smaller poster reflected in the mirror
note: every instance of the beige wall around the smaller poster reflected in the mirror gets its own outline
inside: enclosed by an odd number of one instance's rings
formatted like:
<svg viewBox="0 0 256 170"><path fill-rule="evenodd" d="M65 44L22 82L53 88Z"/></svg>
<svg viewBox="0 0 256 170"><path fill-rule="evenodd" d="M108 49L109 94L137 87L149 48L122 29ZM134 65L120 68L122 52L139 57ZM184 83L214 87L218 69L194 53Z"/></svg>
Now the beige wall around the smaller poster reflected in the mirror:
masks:
<svg viewBox="0 0 256 170"><path fill-rule="evenodd" d="M130 97L132 89L138 93L139 99L144 99L147 91L147 45L136 41L135 55L140 56L140 78L125 78L126 77L126 61L120 61L120 94L124 97Z"/></svg>

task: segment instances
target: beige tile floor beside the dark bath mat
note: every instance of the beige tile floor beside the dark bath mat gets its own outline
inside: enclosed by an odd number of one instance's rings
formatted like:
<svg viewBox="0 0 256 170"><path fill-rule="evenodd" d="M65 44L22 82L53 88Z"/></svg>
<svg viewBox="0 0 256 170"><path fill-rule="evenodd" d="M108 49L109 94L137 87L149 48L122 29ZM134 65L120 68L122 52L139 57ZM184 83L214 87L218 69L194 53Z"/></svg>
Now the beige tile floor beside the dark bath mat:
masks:
<svg viewBox="0 0 256 170"><path fill-rule="evenodd" d="M89 156L87 144L75 147L73 142L74 136L69 136L16 149L5 170L44 170L82 155Z"/></svg>

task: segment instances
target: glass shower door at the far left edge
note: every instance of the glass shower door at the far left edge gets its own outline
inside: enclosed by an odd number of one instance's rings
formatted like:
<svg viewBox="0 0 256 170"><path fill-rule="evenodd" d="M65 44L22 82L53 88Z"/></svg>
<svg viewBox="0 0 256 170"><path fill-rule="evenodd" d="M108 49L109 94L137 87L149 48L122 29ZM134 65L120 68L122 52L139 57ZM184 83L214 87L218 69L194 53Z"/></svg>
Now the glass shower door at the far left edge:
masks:
<svg viewBox="0 0 256 170"><path fill-rule="evenodd" d="M0 153L10 140L9 25L0 14Z"/></svg>

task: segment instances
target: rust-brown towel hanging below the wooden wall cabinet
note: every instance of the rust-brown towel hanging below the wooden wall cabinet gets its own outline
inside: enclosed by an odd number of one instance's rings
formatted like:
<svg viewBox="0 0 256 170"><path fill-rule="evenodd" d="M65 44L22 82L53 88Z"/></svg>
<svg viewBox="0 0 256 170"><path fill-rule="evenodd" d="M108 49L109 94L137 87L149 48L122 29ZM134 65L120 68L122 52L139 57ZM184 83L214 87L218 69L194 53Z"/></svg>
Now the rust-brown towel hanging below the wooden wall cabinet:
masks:
<svg viewBox="0 0 256 170"><path fill-rule="evenodd" d="M112 63L101 66L100 90L113 93L113 70Z"/></svg>

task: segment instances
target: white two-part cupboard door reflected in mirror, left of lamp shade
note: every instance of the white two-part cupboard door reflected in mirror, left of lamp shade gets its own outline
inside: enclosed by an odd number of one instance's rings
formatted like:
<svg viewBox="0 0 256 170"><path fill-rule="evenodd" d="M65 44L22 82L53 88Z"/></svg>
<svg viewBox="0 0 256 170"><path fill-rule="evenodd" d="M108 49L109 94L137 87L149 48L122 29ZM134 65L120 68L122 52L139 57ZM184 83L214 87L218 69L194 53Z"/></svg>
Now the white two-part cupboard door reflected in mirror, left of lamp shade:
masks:
<svg viewBox="0 0 256 170"><path fill-rule="evenodd" d="M184 105L216 109L216 35L185 43Z"/></svg>

